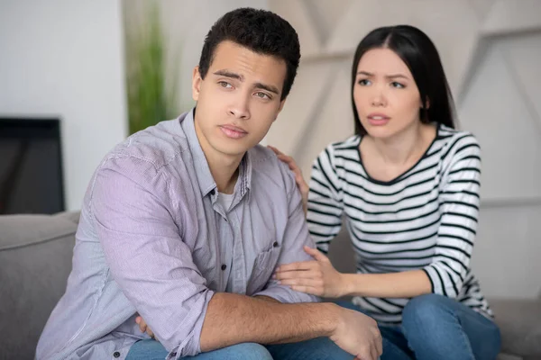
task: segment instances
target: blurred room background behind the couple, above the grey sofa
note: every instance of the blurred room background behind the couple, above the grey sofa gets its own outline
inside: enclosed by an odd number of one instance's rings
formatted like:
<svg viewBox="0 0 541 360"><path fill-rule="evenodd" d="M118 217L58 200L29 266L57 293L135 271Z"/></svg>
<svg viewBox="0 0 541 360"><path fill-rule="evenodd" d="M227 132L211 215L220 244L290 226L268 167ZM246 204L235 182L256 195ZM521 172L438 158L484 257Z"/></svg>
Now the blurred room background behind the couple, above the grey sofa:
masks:
<svg viewBox="0 0 541 360"><path fill-rule="evenodd" d="M473 269L488 297L539 295L541 0L0 0L0 213L78 210L108 150L193 105L206 32L240 6L298 31L298 77L264 142L306 176L328 143L353 134L357 43L383 25L426 31L460 127L481 142ZM14 203L29 194L41 205Z"/></svg>

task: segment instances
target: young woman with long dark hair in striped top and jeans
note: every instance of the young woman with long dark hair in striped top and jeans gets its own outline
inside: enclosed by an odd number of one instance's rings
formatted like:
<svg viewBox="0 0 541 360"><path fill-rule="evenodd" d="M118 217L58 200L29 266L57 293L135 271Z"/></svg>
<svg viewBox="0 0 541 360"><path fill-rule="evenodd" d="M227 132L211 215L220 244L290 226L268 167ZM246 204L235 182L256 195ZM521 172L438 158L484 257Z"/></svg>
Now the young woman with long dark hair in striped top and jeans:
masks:
<svg viewBox="0 0 541 360"><path fill-rule="evenodd" d="M381 359L494 359L500 331L472 275L481 155L454 130L454 105L433 42L412 26L371 31L353 59L356 135L316 158L307 199L315 261L275 276L300 292L339 298L371 315L387 341ZM357 274L326 253L343 216Z"/></svg>

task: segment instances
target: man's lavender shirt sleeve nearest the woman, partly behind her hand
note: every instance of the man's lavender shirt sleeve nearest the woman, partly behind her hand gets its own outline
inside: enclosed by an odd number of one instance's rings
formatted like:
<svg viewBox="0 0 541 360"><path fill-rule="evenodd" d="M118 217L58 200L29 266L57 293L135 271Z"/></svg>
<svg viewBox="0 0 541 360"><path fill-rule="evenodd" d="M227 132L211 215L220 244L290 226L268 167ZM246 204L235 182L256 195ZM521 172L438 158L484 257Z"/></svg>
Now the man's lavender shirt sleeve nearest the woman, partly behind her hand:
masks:
<svg viewBox="0 0 541 360"><path fill-rule="evenodd" d="M302 208L302 197L295 183L295 178L287 166L280 163L280 168L286 182L289 217L282 238L277 266L314 260L304 250L304 246L314 248L316 244L308 232L307 221ZM320 301L320 298L315 295L296 292L289 286L278 284L273 279L270 279L264 289L259 293L255 293L254 296L269 296L285 303Z"/></svg>

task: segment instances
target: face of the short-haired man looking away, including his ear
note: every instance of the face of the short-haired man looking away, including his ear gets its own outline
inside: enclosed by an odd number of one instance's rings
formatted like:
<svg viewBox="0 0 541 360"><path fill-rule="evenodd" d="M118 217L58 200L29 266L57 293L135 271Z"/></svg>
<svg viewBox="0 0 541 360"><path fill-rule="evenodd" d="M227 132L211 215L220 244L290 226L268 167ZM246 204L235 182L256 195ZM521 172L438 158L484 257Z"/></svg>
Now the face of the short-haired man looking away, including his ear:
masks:
<svg viewBox="0 0 541 360"><path fill-rule="evenodd" d="M243 157L263 139L285 102L286 70L283 60L232 41L218 44L205 80L194 69L196 132L207 157Z"/></svg>

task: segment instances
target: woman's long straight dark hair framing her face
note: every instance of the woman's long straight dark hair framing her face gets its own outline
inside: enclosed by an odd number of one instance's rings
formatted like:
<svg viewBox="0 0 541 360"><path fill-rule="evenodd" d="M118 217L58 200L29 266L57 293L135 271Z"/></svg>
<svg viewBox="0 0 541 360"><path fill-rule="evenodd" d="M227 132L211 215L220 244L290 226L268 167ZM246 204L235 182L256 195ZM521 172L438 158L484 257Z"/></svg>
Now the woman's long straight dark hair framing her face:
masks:
<svg viewBox="0 0 541 360"><path fill-rule="evenodd" d="M408 66L423 103L428 101L428 108L421 108L420 119L423 122L438 122L454 129L454 102L449 89L444 67L436 46L425 32L410 25L386 26L372 30L361 40L352 69L352 104L355 121L355 133L366 135L353 99L353 88L357 76L357 67L362 55L371 49L391 49Z"/></svg>

